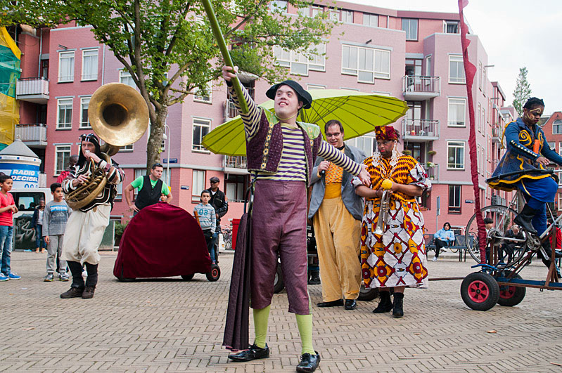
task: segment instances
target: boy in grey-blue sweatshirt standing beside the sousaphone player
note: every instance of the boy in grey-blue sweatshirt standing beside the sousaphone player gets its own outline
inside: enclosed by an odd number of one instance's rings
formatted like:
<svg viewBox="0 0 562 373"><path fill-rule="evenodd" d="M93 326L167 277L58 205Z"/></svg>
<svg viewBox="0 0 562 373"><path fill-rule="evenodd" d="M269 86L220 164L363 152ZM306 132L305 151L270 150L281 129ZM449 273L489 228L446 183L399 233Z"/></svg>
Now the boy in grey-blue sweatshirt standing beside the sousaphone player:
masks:
<svg viewBox="0 0 562 373"><path fill-rule="evenodd" d="M58 253L63 254L63 235L65 234L66 222L70 216L71 209L63 199L63 187L60 183L51 184L53 200L49 202L43 213L43 236L47 244L47 275L44 281L53 281L55 259ZM68 281L70 277L66 274L66 261L60 259L58 280Z"/></svg>

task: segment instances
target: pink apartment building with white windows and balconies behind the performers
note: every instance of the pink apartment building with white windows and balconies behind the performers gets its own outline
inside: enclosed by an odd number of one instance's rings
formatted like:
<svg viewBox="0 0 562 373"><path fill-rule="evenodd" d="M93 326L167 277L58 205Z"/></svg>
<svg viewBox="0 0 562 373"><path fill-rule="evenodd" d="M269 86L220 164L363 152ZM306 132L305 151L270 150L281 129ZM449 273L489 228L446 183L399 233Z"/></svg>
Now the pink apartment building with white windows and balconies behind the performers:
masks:
<svg viewBox="0 0 562 373"><path fill-rule="evenodd" d="M276 0L286 8L286 1ZM468 158L468 103L461 58L459 15L395 11L337 2L338 10L322 4L291 8L297 16L330 12L339 20L330 37L317 50L326 53L314 60L298 53L274 51L278 63L307 89L349 89L390 95L407 100L409 112L394 126L403 135L402 145L426 166L433 190L421 205L428 233L445 221L463 228L473 214L473 185ZM483 206L509 198L486 187L485 178L502 155L499 140L505 117L505 96L497 82L487 79L491 67L476 34L470 34L469 55L478 74L473 86L477 118L478 186ZM22 79L18 82L21 125L17 133L44 159L46 185L56 180L68 157L79 150L78 136L91 131L87 120L89 97L112 81L132 84L107 47L98 44L90 27L74 24L56 29L20 30L23 51ZM243 77L243 83L262 103L267 82ZM229 198L226 218L239 218L248 172L243 157L224 157L205 150L201 138L225 120L236 116L222 81L211 84L210 96L188 96L170 107L167 140L162 143L162 163L170 167L174 204L192 211L208 179L218 176ZM509 122L509 121L508 121ZM373 152L373 134L348 140ZM115 160L130 183L146 167L146 135L120 150ZM170 163L166 163L170 160ZM439 207L439 209L438 209ZM439 215L438 215L439 211ZM112 218L127 221L132 214L118 197ZM226 221L226 220L224 220Z"/></svg>

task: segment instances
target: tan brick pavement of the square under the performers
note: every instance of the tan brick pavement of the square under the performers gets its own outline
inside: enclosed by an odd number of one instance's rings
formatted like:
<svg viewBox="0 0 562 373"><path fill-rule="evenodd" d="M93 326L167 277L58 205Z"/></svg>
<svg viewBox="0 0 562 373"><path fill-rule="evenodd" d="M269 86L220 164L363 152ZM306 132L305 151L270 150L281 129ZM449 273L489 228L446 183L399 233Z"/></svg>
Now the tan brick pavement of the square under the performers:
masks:
<svg viewBox="0 0 562 373"><path fill-rule="evenodd" d="M433 257L433 256L431 256ZM46 254L13 253L22 280L0 283L0 371L3 372L294 372L300 354L286 294L272 303L271 358L229 362L222 331L233 256L222 277L117 282L115 254L102 255L94 299L60 299L69 282L42 282ZM429 262L431 277L466 275L469 262L450 254ZM524 277L546 275L538 263ZM562 372L562 292L528 289L516 307L467 308L461 282L407 289L405 316L373 315L376 301L356 310L313 308L320 372ZM309 287L321 301L320 285ZM250 313L251 315L251 313ZM250 316L251 317L251 316ZM496 330L496 334L487 333ZM250 334L253 330L250 328Z"/></svg>

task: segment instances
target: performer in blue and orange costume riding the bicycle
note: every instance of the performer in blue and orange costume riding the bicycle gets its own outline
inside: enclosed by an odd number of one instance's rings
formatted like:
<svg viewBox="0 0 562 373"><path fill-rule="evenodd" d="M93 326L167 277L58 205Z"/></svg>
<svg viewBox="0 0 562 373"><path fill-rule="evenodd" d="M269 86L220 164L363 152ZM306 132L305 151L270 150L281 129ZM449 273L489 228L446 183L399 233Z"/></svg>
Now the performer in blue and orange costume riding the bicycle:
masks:
<svg viewBox="0 0 562 373"><path fill-rule="evenodd" d="M554 202L558 190L558 183L553 176L539 170L544 170L550 162L562 166L562 157L549 147L544 132L537 125L543 112L543 100L529 98L523 105L523 118L517 118L506 126L507 150L492 174L492 179L494 176L497 178L489 183L494 189L519 189L523 192L527 203L513 219L513 223L536 235L547 230L547 202ZM523 170L528 172L515 174L516 171ZM550 256L548 240L543 243L543 247ZM548 257L544 257L540 251L537 255L545 266L550 266Z"/></svg>

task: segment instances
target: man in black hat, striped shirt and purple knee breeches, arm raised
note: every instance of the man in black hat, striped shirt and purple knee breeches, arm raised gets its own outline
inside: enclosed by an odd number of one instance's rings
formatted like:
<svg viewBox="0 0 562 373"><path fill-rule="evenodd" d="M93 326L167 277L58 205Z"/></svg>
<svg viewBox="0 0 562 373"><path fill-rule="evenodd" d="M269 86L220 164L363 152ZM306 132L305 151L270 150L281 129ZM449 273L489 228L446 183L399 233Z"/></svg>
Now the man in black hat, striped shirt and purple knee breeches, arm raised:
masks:
<svg viewBox="0 0 562 373"><path fill-rule="evenodd" d="M230 82L236 77L234 70L224 66L222 76L239 109L239 99ZM250 299L255 341L248 350L231 354L229 358L234 361L269 358L267 322L279 256L289 312L296 314L302 343L297 372L314 372L320 355L312 346L312 314L307 291L307 185L317 156L359 176L366 185L370 183L369 173L326 143L319 126L297 121L300 109L311 107L312 96L296 81L283 81L267 91L266 96L274 100L274 112L257 107L247 91L243 90L243 95L249 109L248 113L241 112L248 171L255 177L251 224L256 234L250 238ZM226 341L225 345L228 347Z"/></svg>

